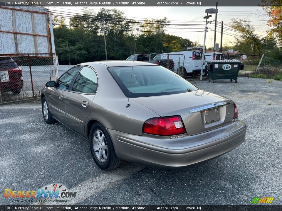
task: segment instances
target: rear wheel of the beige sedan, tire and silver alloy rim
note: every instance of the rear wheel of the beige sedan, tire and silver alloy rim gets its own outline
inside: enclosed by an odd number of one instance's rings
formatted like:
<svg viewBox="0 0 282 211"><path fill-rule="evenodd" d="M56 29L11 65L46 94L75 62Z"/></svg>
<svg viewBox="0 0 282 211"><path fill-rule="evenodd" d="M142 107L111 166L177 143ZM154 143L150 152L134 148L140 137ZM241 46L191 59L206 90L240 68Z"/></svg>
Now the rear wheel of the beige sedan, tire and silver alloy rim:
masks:
<svg viewBox="0 0 282 211"><path fill-rule="evenodd" d="M112 139L106 128L100 123L92 125L89 136L90 150L92 157L101 169L115 169L121 164L115 154Z"/></svg>

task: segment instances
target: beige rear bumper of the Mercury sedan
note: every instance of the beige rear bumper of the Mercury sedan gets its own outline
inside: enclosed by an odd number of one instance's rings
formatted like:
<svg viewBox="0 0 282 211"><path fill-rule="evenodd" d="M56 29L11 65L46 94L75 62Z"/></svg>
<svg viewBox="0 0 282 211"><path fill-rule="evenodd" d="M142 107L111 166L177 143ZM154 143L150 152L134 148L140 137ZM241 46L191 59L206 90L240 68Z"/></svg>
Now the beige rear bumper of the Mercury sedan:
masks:
<svg viewBox="0 0 282 211"><path fill-rule="evenodd" d="M229 131L226 132L226 130ZM157 168L173 169L209 160L236 148L245 140L246 125L244 122L236 121L213 131L175 139L174 149L171 145L168 148L165 140L162 147L154 146L152 143L145 143L142 136L124 134L114 130L108 131L113 139L117 157L120 159ZM219 136L216 134L221 131L226 136L221 135L221 138L218 139ZM138 141L138 137L141 141ZM199 138L202 141L196 141ZM150 142L152 142L151 138ZM179 145L181 147L177 148Z"/></svg>

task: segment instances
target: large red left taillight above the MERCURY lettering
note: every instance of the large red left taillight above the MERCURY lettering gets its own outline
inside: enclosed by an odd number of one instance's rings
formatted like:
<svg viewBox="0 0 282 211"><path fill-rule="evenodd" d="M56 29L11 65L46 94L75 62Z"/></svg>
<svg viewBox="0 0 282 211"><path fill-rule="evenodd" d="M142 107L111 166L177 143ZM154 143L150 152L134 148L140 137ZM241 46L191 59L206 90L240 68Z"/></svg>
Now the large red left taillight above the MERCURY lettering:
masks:
<svg viewBox="0 0 282 211"><path fill-rule="evenodd" d="M169 136L186 133L186 130L181 116L172 116L147 120L143 126L143 133Z"/></svg>

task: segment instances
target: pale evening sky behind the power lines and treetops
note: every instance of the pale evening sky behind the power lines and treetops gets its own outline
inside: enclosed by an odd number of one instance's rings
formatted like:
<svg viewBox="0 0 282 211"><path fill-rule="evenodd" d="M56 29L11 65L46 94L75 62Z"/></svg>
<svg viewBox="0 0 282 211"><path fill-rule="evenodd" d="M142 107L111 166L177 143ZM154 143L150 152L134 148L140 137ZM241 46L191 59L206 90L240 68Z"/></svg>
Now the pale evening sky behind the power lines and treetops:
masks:
<svg viewBox="0 0 282 211"><path fill-rule="evenodd" d="M73 13L81 13L83 7L49 7L51 11L65 11ZM98 12L100 7L88 7L93 9L95 12ZM189 21L202 21L196 24L202 24L199 26L168 26L167 33L172 35L177 35L182 38L188 38L192 42L199 42L200 44L204 43L204 24L205 19L203 17L206 15L205 9L212 7L105 7L105 8L116 8L122 12L129 19L140 19L143 21L147 19L162 19L167 17L171 22L181 21L184 24L194 24ZM215 6L214 6L215 8ZM269 29L267 26L267 21L269 19L266 12L261 7L220 7L218 6L217 21L224 21L224 24L230 25L231 18L241 18L251 21L250 23L254 25L255 33L261 36L266 36L266 31ZM206 36L206 46L210 47L212 41L212 46L214 43L214 23L215 23L215 14L212 14L212 17L208 19L212 21L211 24L208 24L208 32ZM231 29L229 26L224 25L224 34L223 34L223 44L232 43L235 41L236 32ZM216 43L220 45L220 31L221 23L217 24L217 33L216 33ZM238 35L237 35L238 36Z"/></svg>

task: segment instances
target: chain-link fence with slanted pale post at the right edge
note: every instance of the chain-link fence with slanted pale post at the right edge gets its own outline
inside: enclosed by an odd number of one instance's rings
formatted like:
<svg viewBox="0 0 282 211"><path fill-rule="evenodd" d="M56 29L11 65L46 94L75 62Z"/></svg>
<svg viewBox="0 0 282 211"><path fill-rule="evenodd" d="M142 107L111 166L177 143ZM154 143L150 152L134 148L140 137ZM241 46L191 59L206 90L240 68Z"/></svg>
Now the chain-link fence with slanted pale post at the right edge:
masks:
<svg viewBox="0 0 282 211"><path fill-rule="evenodd" d="M272 76L274 78L281 76L282 78L282 62L272 57L263 55L255 73L265 74L269 77Z"/></svg>

